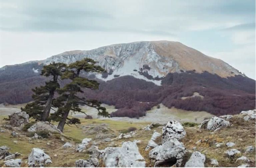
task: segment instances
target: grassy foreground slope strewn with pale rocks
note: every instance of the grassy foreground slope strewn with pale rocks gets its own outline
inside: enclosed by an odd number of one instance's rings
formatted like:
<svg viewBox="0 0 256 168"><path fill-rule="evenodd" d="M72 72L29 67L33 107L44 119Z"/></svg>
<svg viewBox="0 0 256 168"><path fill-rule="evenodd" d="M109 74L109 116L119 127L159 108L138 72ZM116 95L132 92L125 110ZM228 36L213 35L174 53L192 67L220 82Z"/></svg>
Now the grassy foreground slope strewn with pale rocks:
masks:
<svg viewBox="0 0 256 168"><path fill-rule="evenodd" d="M0 116L3 167L255 167L255 110L200 125L82 119L61 133L15 112Z"/></svg>

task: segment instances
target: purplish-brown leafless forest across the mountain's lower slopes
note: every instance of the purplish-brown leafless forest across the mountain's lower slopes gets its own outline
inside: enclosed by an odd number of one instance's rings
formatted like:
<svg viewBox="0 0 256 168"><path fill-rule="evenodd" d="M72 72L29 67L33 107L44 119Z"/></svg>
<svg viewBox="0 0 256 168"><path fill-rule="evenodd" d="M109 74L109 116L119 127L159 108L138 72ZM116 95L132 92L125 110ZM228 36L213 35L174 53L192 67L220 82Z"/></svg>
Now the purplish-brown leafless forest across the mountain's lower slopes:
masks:
<svg viewBox="0 0 256 168"><path fill-rule="evenodd" d="M0 81L0 103L25 103L32 100L31 88L45 83L47 78L31 73L31 69L39 69L37 64L25 64L24 69L30 72L8 67L15 71L15 77L4 76ZM29 66L29 67L28 67ZM4 72L4 71L3 71ZM0 71L1 77L3 73ZM93 78L93 75L88 78ZM15 80L15 82L14 82ZM87 98L97 99L102 103L115 105L118 110L113 116L140 117L153 106L163 103L167 107L184 110L208 111L214 115L236 114L241 110L255 108L255 81L242 76L221 78L217 75L193 71L169 73L162 85L124 76L100 83L99 90L84 90ZM65 82L63 83L63 85ZM62 85L62 84L61 84ZM181 99L198 92L201 97Z"/></svg>

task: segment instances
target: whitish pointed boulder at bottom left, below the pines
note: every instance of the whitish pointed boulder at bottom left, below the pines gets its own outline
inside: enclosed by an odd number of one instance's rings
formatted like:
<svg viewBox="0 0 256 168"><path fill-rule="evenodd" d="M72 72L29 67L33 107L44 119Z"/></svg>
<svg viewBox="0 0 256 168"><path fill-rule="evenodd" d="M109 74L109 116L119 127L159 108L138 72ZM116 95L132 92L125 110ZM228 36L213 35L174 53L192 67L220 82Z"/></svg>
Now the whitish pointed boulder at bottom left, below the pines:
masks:
<svg viewBox="0 0 256 168"><path fill-rule="evenodd" d="M28 166L42 167L46 163L49 163L49 161L47 161L48 159L51 160L51 157L47 155L42 149L33 148L32 152L28 156Z"/></svg>

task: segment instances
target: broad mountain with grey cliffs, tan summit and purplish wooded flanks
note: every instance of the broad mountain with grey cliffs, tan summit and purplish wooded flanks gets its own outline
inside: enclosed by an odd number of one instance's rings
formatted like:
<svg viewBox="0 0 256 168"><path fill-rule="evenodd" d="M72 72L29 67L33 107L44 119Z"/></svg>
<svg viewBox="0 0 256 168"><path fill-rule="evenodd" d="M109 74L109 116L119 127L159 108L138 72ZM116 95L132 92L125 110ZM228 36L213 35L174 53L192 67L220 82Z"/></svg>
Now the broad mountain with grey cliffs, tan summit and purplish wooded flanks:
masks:
<svg viewBox="0 0 256 168"><path fill-rule="evenodd" d="M46 60L5 66L0 69L0 103L31 101L31 88L47 80L40 76L43 65L83 58L107 70L102 75L84 74L100 83L99 90L85 90L85 94L115 105L118 110L111 116L139 117L159 103L215 115L255 108L255 80L220 59L170 41L68 51Z"/></svg>

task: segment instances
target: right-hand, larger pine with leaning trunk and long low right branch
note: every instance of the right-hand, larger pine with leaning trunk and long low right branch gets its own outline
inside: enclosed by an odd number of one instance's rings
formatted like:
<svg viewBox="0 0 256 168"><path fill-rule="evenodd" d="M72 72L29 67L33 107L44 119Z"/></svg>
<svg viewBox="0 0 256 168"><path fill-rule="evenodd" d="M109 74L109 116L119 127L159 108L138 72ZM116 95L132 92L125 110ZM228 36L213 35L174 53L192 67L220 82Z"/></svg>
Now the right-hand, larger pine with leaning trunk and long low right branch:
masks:
<svg viewBox="0 0 256 168"><path fill-rule="evenodd" d="M83 93L82 88L98 89L99 83L95 80L88 80L81 77L81 71L102 73L105 70L100 66L95 65L96 62L92 59L86 58L81 61L76 61L70 64L66 71L61 76L61 79L69 79L71 82L66 84L63 88L58 88L59 96L54 99L53 105L58 110L51 114L50 120L58 121L58 129L63 131L65 124L80 124L77 118L69 118L69 112L82 112L79 104L87 105L98 110L98 115L109 117L109 113L105 107L100 106L100 102L96 100L88 100L85 97L80 97L78 93ZM85 113L86 114L86 113Z"/></svg>

